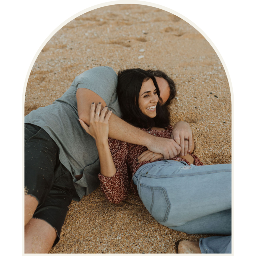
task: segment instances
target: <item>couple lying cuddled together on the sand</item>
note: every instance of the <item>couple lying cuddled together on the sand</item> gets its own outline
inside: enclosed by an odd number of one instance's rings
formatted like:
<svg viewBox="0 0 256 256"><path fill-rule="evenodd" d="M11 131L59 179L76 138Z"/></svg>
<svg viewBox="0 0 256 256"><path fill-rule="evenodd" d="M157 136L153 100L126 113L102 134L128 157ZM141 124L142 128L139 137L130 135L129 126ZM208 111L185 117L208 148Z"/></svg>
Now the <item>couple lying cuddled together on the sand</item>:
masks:
<svg viewBox="0 0 256 256"><path fill-rule="evenodd" d="M100 185L116 204L132 189L168 228L229 235L182 241L180 253L231 253L231 164L190 153L189 124L170 125L175 94L162 71L96 67L25 116L25 252L49 252L71 200Z"/></svg>

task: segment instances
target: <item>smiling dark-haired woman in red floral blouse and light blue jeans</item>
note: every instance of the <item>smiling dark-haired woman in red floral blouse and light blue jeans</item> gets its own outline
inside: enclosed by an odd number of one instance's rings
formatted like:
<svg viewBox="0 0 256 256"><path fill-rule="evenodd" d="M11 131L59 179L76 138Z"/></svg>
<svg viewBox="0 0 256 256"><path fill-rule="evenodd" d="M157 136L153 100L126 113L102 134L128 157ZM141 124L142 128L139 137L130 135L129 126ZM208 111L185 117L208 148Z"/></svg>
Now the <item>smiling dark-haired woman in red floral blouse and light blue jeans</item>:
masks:
<svg viewBox="0 0 256 256"><path fill-rule="evenodd" d="M120 71L117 94L125 121L153 136L171 138L167 108L160 104L152 74L141 69ZM100 114L100 107L98 104L95 111L92 104L90 127L80 122L96 140L101 188L109 201L124 200L133 181L145 207L164 226L191 234L230 235L230 164L203 166L191 153L164 160L161 154L148 152L144 146L108 139L111 111L107 113L105 107ZM147 157L139 163L138 157L144 152ZM218 239L216 246L224 253L231 237ZM215 242L214 237L200 239L201 252L214 251Z"/></svg>

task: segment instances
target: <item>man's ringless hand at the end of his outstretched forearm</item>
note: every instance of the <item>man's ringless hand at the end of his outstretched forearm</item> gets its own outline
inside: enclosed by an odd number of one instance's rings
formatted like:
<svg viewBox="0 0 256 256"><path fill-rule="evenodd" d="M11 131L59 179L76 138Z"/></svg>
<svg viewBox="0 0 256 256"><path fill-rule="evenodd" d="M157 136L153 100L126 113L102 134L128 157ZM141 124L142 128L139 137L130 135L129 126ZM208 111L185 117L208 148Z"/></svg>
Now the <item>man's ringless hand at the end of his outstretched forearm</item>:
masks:
<svg viewBox="0 0 256 256"><path fill-rule="evenodd" d="M162 154L164 159L170 159L180 154L180 145L174 140L150 136L152 138L146 145L150 151Z"/></svg>

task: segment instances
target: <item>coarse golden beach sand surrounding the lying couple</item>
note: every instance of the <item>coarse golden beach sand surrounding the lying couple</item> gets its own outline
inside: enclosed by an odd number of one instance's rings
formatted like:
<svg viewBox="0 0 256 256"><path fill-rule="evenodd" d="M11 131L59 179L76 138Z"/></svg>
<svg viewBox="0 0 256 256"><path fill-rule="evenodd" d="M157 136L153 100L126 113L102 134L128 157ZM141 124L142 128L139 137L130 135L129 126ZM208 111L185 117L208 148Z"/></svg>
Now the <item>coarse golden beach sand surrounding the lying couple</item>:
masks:
<svg viewBox="0 0 256 256"><path fill-rule="evenodd" d="M218 47L218 45L217 45ZM145 5L119 4L87 12L58 31L28 79L25 115L52 104L75 76L97 66L161 69L177 84L171 120L190 124L204 164L231 163L231 95L212 46L186 21ZM200 196L200 195L198 195ZM177 253L188 235L151 217L140 198L107 201L98 188L72 201L60 242L50 253Z"/></svg>

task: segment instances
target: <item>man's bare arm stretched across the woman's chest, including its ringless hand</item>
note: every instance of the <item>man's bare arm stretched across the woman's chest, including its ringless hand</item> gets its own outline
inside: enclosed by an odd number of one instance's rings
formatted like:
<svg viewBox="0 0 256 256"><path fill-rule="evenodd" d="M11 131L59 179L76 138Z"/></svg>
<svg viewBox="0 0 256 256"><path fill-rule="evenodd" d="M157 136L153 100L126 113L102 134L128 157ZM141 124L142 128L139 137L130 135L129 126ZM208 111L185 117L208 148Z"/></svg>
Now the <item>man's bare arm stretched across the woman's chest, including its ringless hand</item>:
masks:
<svg viewBox="0 0 256 256"><path fill-rule="evenodd" d="M106 106L106 102L98 94L85 88L77 89L76 99L79 119L82 119L88 126L92 102L96 104L95 107L99 102L101 102L102 108ZM146 146L153 152L161 153L165 159L173 158L180 153L180 146L174 140L152 136L126 123L114 114L111 114L108 123L110 138Z"/></svg>

